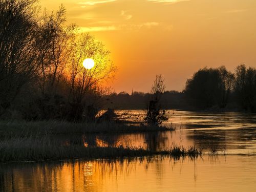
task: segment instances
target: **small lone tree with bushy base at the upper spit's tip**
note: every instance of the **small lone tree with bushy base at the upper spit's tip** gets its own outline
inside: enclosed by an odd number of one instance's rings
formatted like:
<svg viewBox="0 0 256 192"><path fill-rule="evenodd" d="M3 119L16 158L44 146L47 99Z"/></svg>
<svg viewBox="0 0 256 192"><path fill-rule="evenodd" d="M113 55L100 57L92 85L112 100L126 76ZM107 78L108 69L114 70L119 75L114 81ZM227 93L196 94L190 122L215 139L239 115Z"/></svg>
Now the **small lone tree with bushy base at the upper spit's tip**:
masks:
<svg viewBox="0 0 256 192"><path fill-rule="evenodd" d="M163 121L168 120L165 110L161 109L161 96L165 90L164 78L162 75L156 75L156 79L151 88L152 98L150 99L146 117L144 118L148 124L159 126Z"/></svg>

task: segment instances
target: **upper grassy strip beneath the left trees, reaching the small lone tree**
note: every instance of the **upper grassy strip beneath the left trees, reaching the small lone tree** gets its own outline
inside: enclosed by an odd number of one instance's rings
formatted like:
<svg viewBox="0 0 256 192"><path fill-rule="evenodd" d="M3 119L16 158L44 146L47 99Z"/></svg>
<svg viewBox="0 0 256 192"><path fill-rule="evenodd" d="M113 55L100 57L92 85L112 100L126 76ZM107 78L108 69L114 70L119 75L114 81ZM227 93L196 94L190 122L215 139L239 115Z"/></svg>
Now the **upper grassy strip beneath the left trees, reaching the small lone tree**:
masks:
<svg viewBox="0 0 256 192"><path fill-rule="evenodd" d="M136 133L154 131L174 131L173 127L127 125L114 122L72 123L66 121L2 121L0 122L0 137L14 135L47 135L73 133Z"/></svg>

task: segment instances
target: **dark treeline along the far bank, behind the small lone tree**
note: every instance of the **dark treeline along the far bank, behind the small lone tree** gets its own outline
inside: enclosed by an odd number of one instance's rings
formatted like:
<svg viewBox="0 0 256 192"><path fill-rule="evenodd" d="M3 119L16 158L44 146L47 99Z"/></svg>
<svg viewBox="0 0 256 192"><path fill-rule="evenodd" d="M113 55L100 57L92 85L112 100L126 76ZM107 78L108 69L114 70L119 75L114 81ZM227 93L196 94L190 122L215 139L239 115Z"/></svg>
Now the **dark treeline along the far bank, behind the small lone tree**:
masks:
<svg viewBox="0 0 256 192"><path fill-rule="evenodd" d="M114 93L106 98L106 106L144 109L150 98L150 93ZM161 103L165 109L256 112L256 69L240 65L231 73L225 66L205 67L187 79L182 92L165 91Z"/></svg>

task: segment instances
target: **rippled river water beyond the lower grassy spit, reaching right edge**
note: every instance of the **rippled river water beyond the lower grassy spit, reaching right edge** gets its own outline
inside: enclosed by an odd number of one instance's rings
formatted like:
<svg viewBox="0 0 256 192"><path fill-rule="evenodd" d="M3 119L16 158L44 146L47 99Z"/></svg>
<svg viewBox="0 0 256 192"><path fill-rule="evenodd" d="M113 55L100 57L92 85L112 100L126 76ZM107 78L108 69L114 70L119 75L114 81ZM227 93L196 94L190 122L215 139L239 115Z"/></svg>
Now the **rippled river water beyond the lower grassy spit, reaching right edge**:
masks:
<svg viewBox="0 0 256 192"><path fill-rule="evenodd" d="M136 117L140 111L132 111ZM54 137L62 144L84 146L143 147L152 151L165 150L174 144L196 146L204 152L226 154L256 153L256 115L240 113L175 112L167 124L177 127L175 132L135 134L86 134Z"/></svg>

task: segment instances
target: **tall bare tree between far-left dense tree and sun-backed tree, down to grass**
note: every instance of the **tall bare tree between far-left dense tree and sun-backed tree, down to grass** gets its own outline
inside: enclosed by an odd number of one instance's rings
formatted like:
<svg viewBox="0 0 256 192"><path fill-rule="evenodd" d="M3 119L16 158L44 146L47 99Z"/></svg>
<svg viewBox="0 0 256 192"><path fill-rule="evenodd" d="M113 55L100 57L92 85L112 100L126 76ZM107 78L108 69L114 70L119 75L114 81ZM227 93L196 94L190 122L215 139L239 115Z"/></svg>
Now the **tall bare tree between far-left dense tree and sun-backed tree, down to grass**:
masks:
<svg viewBox="0 0 256 192"><path fill-rule="evenodd" d="M73 49L76 26L66 26L66 9L60 6L56 13L46 11L40 27L47 36L48 49L38 69L37 85L40 90L38 106L44 119L64 118L67 110L65 93L65 72Z"/></svg>

